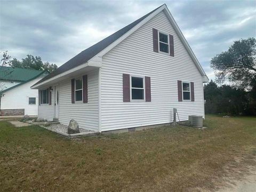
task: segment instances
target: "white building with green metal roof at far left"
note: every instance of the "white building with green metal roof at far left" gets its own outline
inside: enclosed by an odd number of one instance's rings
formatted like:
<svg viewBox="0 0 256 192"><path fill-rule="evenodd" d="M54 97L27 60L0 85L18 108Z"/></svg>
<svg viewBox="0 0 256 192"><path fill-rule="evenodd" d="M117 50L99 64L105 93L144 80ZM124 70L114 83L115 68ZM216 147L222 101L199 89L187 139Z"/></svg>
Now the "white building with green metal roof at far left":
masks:
<svg viewBox="0 0 256 192"><path fill-rule="evenodd" d="M0 67L1 116L37 115L38 91L30 86L47 74L41 70Z"/></svg>

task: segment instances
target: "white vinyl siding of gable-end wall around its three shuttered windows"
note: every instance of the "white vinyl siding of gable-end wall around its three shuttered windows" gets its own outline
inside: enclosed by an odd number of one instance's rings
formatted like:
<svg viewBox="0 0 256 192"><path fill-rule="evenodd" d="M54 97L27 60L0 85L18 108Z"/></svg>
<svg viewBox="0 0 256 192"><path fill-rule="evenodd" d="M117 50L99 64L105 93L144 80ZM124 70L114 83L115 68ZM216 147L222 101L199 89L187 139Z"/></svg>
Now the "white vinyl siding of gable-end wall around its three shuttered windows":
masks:
<svg viewBox="0 0 256 192"><path fill-rule="evenodd" d="M153 51L152 28L174 37L175 57ZM123 102L123 76L149 76L151 102ZM194 82L195 102L178 102L177 81ZM101 131L173 121L203 115L202 76L163 12L140 27L102 57Z"/></svg>

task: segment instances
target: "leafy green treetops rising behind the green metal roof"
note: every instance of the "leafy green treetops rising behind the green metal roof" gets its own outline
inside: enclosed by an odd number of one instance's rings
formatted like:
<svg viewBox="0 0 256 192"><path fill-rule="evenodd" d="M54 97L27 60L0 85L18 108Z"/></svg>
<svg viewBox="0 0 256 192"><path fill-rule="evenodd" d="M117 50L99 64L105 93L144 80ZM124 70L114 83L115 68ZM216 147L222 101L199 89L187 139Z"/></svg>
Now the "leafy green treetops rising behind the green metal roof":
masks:
<svg viewBox="0 0 256 192"><path fill-rule="evenodd" d="M27 55L25 59L22 59L22 61L19 61L18 59L12 60L12 65L14 67L19 68L27 68L27 69L36 69L36 70L47 70L50 73L55 71L58 66L55 64L50 64L49 62L43 63L41 57L34 57L33 55Z"/></svg>

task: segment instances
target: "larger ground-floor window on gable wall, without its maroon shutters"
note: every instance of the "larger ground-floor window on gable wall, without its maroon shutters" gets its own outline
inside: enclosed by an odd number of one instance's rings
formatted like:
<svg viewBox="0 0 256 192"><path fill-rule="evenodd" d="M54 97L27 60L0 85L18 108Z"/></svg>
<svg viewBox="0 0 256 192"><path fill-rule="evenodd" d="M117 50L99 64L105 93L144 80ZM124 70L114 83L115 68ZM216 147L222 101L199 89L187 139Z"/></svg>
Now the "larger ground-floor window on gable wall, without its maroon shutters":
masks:
<svg viewBox="0 0 256 192"><path fill-rule="evenodd" d="M131 77L132 100L144 100L144 78Z"/></svg>

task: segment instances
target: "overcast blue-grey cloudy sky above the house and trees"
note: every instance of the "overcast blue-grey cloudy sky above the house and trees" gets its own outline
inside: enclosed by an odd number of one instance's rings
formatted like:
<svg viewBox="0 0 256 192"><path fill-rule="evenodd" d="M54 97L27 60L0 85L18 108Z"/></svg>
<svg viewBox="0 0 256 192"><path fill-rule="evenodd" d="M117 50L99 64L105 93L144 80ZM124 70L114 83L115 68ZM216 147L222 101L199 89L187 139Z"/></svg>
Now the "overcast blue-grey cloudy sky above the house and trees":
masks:
<svg viewBox="0 0 256 192"><path fill-rule="evenodd" d="M0 51L60 66L164 3L209 78L214 55L256 36L256 1L0 0Z"/></svg>

